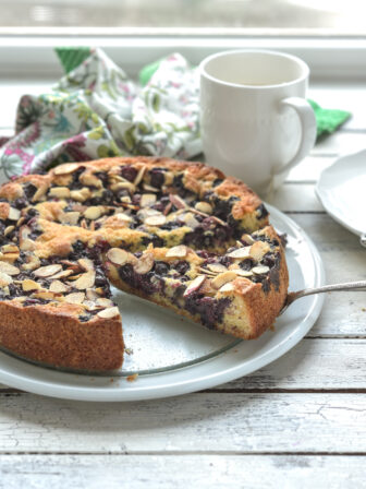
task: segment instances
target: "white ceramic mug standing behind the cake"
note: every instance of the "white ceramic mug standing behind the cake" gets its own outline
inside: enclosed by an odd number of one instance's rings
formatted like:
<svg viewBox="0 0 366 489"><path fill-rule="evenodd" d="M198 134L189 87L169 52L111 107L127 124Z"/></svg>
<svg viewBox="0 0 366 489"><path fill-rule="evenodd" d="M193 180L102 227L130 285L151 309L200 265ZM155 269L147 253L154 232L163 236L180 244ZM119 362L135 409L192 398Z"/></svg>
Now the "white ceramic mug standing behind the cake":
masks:
<svg viewBox="0 0 366 489"><path fill-rule="evenodd" d="M235 50L206 58L199 70L207 163L265 196L315 143L307 64L282 52Z"/></svg>

